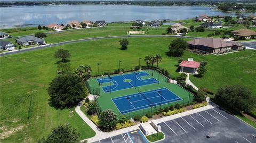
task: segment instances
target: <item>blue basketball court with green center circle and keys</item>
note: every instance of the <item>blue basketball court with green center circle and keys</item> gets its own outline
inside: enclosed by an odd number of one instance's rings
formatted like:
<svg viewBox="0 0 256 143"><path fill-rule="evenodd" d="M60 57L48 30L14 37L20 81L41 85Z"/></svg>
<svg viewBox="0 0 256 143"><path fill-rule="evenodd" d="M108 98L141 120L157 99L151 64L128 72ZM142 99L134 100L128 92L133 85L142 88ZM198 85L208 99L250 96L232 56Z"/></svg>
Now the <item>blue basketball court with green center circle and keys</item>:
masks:
<svg viewBox="0 0 256 143"><path fill-rule="evenodd" d="M97 81L105 93L159 82L145 71L98 78Z"/></svg>

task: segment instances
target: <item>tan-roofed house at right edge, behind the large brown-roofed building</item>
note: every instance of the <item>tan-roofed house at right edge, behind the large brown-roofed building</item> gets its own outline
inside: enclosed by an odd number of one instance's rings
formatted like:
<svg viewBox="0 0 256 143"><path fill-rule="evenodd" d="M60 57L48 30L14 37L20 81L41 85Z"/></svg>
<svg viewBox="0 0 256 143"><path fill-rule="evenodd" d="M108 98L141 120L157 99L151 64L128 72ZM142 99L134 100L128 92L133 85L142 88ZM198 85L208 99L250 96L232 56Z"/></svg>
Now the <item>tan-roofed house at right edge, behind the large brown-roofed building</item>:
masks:
<svg viewBox="0 0 256 143"><path fill-rule="evenodd" d="M230 31L236 35L239 39L251 39L252 37L256 36L256 32L250 29L238 29Z"/></svg>

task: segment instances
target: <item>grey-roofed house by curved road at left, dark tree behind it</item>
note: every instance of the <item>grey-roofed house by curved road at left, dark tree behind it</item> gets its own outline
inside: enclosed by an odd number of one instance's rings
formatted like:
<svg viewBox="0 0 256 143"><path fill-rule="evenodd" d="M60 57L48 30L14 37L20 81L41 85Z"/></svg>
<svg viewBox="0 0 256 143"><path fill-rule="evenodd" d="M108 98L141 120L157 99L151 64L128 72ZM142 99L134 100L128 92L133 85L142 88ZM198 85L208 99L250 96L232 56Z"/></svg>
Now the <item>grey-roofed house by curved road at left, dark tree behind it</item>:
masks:
<svg viewBox="0 0 256 143"><path fill-rule="evenodd" d="M45 40L41 39L41 38L37 38L35 36L25 36L25 37L21 37L19 39L16 39L17 43L19 45L24 45L24 46L28 46L28 45L44 45L45 44Z"/></svg>

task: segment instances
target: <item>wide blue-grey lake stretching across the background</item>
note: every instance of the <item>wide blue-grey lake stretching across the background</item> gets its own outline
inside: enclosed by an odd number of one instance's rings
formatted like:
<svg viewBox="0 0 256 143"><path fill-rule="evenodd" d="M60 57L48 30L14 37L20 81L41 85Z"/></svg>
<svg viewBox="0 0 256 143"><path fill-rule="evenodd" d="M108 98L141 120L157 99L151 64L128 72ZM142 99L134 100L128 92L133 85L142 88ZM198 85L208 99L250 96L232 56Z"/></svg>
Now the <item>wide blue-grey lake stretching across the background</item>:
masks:
<svg viewBox="0 0 256 143"><path fill-rule="evenodd" d="M10 28L26 24L66 24L77 20L105 20L106 22L133 20L182 20L199 14L231 15L205 6L135 6L135 5L50 5L0 7L0 26ZM245 13L245 15L256 13Z"/></svg>

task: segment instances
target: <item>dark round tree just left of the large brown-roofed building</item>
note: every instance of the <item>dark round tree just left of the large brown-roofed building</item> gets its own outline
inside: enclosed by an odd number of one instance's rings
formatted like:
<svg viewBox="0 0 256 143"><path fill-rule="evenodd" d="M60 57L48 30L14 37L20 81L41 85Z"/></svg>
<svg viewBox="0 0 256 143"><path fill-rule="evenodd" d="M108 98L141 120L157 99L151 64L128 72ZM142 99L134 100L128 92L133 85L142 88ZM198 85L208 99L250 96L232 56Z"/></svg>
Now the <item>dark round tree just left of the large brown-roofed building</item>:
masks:
<svg viewBox="0 0 256 143"><path fill-rule="evenodd" d="M167 55L181 57L187 47L187 41L183 40L182 38L176 38L171 42Z"/></svg>

